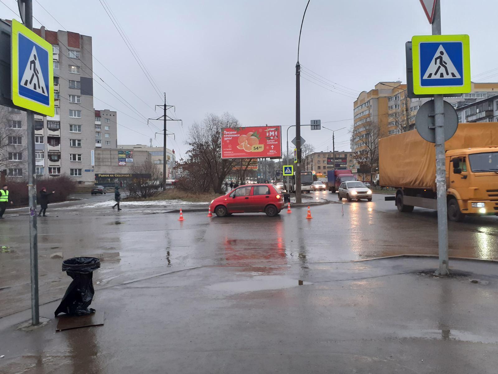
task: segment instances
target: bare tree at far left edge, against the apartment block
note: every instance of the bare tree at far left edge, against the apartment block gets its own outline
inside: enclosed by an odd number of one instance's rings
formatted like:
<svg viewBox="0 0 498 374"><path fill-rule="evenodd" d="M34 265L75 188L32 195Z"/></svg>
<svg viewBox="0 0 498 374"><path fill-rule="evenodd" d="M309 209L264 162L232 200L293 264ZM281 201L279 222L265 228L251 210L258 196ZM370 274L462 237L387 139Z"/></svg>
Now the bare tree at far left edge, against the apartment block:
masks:
<svg viewBox="0 0 498 374"><path fill-rule="evenodd" d="M22 169L27 172L27 133L25 116L0 106L0 170Z"/></svg>

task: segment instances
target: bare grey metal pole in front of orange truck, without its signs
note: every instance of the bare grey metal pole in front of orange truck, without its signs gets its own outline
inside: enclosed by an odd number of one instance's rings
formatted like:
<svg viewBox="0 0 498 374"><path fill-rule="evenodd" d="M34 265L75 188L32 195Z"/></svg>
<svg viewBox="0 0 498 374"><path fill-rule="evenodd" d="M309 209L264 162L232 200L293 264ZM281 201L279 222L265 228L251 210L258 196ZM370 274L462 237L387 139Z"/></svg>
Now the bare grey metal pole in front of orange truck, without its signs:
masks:
<svg viewBox="0 0 498 374"><path fill-rule="evenodd" d="M441 35L441 4L436 1L432 21L432 35ZM448 275L448 215L446 205L446 161L444 148L444 100L434 95L434 122L436 133L436 188L439 269L436 275Z"/></svg>

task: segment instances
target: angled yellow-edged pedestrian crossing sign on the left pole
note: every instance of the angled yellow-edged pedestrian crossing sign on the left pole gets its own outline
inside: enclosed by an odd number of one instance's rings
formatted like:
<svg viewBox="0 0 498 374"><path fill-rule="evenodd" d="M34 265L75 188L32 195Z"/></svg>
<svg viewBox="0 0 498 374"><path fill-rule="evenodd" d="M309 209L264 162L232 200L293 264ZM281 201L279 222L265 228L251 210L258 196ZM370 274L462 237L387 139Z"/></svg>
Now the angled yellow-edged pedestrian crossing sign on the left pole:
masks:
<svg viewBox="0 0 498 374"><path fill-rule="evenodd" d="M12 102L54 116L52 45L22 23L12 20Z"/></svg>

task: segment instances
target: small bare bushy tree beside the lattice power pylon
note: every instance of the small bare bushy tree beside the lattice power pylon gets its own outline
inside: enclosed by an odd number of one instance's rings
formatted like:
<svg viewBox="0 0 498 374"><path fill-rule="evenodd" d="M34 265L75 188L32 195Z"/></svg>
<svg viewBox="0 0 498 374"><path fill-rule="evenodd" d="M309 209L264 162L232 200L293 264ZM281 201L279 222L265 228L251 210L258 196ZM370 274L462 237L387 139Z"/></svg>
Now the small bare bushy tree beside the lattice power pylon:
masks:
<svg viewBox="0 0 498 374"><path fill-rule="evenodd" d="M146 160L140 164L133 165L130 172L136 175L133 183L128 185L129 193L133 197L152 197L162 191L162 175L161 171L150 160Z"/></svg>

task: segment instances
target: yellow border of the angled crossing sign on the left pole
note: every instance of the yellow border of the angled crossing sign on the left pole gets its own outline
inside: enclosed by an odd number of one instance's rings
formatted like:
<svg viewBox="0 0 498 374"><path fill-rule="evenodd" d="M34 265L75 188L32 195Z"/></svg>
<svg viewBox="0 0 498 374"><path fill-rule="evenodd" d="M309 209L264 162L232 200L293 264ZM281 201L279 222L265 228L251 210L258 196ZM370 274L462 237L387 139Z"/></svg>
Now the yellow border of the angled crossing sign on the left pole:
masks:
<svg viewBox="0 0 498 374"><path fill-rule="evenodd" d="M41 48L45 49L48 53L48 80L49 80L49 105L43 105L33 100L26 99L19 95L18 89L18 74L19 74L19 55L18 55L18 44L19 44L19 33L24 35L26 38L32 42L38 44ZM12 70L12 102L18 107L32 110L33 112L39 113L44 116L53 117L55 114L54 105L54 62L53 62L53 52L52 44L43 39L42 37L36 35L29 28L24 26L22 23L12 19L12 38L11 38L11 70Z"/></svg>

